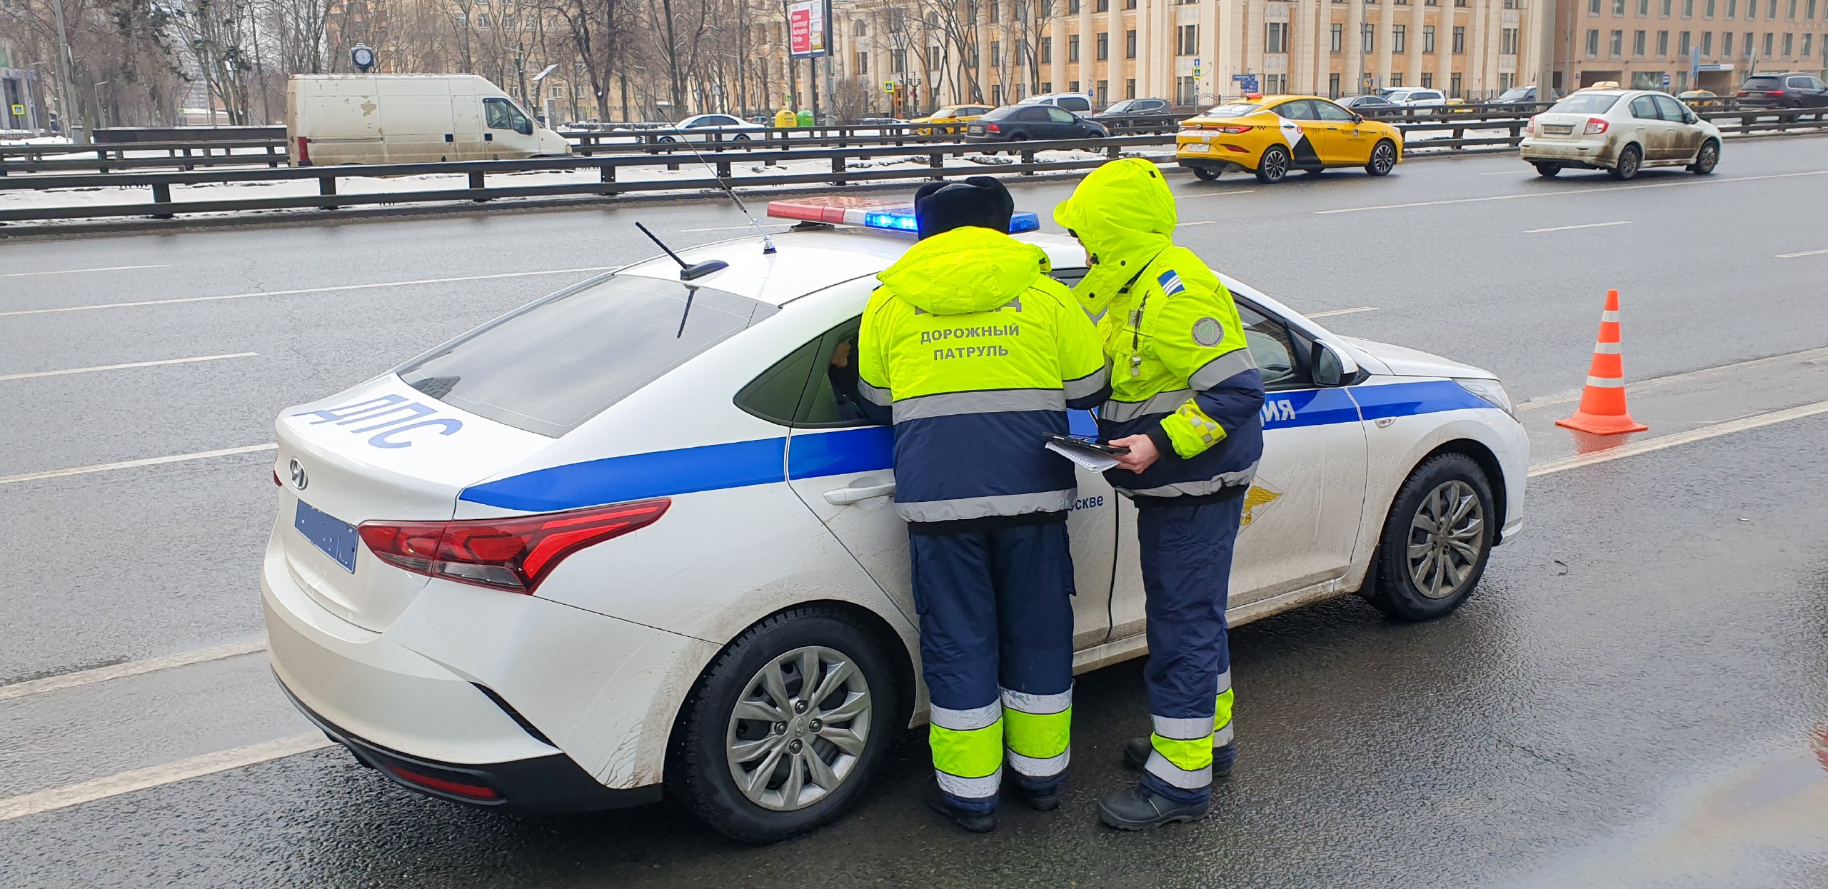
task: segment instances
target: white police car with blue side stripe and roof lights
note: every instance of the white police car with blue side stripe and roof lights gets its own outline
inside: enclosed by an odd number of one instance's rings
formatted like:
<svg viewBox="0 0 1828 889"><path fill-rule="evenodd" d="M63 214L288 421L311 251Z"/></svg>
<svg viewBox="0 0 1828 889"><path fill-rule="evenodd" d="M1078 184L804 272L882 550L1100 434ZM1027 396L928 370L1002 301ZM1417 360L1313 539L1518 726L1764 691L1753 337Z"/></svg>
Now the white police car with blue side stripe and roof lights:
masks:
<svg viewBox="0 0 1828 889"><path fill-rule="evenodd" d="M1084 273L1071 240L1022 238ZM852 805L925 697L890 434L828 368L910 240L801 225L775 243L684 251L728 263L693 280L667 258L590 278L289 408L261 591L300 710L462 803L664 788L749 841ZM1353 591L1451 611L1521 527L1503 386L1227 284L1269 388L1232 624ZM1135 509L1082 472L1069 527L1079 669L1142 655Z"/></svg>

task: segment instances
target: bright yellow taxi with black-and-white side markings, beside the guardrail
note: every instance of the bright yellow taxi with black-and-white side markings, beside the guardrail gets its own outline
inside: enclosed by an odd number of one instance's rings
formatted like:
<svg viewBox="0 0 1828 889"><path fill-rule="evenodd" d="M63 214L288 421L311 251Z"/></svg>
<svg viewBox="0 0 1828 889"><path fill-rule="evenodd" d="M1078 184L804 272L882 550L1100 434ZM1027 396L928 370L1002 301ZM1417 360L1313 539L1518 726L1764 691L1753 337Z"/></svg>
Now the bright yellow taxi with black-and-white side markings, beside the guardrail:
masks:
<svg viewBox="0 0 1828 889"><path fill-rule="evenodd" d="M1206 181L1250 170L1267 185L1329 166L1384 176L1402 161L1402 130L1318 95L1252 93L1181 121L1174 155Z"/></svg>

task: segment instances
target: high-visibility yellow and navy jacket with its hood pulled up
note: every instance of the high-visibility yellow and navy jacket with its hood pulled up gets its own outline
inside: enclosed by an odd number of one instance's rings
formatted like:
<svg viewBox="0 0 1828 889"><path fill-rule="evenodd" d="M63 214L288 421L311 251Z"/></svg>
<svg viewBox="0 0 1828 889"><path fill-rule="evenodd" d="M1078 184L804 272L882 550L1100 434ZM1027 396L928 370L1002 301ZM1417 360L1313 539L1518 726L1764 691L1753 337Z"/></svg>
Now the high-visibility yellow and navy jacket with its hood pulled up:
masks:
<svg viewBox="0 0 1828 889"><path fill-rule="evenodd" d="M1243 490L1263 455L1263 379L1225 284L1174 245L1177 214L1161 170L1141 157L1099 166L1055 207L1055 221L1089 252L1091 273L1073 295L1100 315L1113 362L1099 434L1144 434L1161 452L1142 474L1106 477L1135 498Z"/></svg>

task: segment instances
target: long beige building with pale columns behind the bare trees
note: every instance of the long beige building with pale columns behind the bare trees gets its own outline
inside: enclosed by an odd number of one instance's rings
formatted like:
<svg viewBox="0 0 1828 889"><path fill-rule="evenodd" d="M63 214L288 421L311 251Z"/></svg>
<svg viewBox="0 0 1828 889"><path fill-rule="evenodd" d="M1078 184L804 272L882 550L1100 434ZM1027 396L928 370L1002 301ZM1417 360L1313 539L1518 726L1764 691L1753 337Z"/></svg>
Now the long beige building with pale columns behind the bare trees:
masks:
<svg viewBox="0 0 1828 889"><path fill-rule="evenodd" d="M1536 2L956 0L947 15L932 0L839 0L834 73L876 91L896 82L916 108L1047 91L1214 104L1247 75L1263 91L1475 99L1534 82Z"/></svg>

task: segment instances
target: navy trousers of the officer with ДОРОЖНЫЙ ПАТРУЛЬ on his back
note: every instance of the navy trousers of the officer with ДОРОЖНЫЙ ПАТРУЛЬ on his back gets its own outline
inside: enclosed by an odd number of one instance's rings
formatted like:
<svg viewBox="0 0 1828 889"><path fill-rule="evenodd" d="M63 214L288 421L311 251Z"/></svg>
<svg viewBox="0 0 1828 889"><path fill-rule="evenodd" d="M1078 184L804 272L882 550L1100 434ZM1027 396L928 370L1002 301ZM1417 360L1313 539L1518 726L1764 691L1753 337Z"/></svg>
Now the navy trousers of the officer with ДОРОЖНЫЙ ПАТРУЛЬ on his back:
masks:
<svg viewBox="0 0 1828 889"><path fill-rule="evenodd" d="M914 562L914 607L919 611L921 677L932 699L934 726L978 728L1000 719L1009 701L1036 710L1035 701L1071 699L1073 688L1073 554L1066 521L1015 525L956 534L909 534ZM1040 712L1057 712L1058 704ZM1210 706L1210 702L1208 702ZM994 743L994 741L993 741ZM938 766L936 746L936 766ZM1018 763L1024 765L1024 763ZM1027 788L1064 781L1064 755L1051 766L1016 770ZM1055 772L1058 768L1058 772ZM980 777L969 790L943 768L940 787L952 805L996 807L1002 776ZM958 792L949 792L951 788Z"/></svg>

